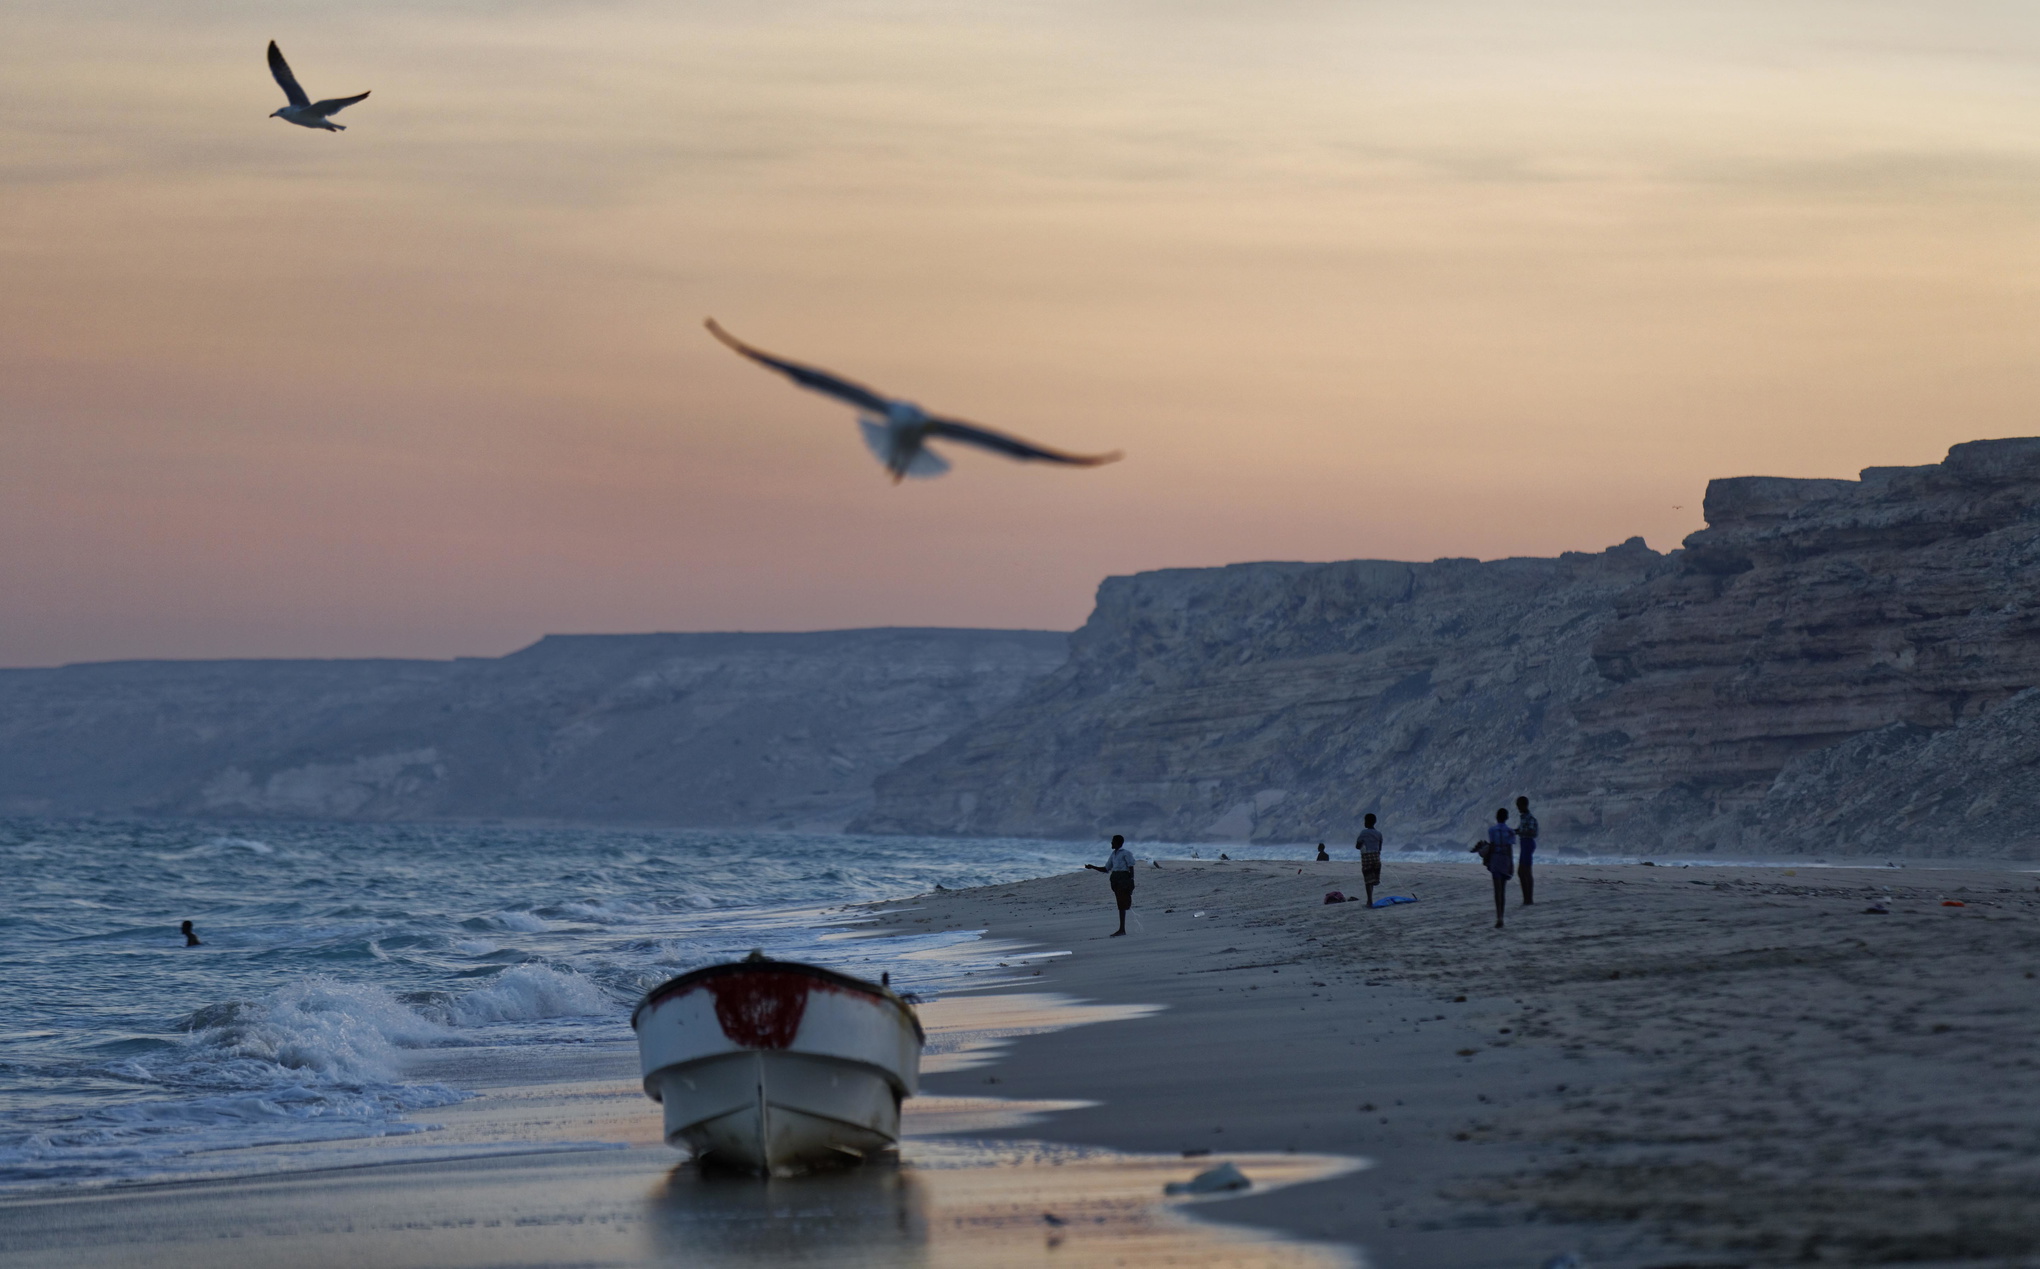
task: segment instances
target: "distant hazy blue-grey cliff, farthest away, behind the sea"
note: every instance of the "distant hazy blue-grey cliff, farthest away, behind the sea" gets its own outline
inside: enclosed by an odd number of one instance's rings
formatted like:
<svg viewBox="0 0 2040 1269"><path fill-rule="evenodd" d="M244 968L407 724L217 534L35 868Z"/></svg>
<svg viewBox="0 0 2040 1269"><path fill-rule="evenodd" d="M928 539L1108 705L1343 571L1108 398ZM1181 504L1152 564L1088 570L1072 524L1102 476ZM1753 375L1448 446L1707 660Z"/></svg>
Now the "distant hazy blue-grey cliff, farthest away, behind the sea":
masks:
<svg viewBox="0 0 2040 1269"><path fill-rule="evenodd" d="M500 659L0 671L0 812L840 828L1040 630L549 637Z"/></svg>

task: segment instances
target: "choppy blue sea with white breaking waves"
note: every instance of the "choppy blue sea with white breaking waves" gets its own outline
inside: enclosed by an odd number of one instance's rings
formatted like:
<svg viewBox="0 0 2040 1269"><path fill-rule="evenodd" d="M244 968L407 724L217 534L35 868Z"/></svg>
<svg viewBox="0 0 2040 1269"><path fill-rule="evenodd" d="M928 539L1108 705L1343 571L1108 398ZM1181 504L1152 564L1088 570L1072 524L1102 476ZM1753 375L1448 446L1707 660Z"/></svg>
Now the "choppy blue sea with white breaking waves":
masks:
<svg viewBox="0 0 2040 1269"><path fill-rule="evenodd" d="M435 1049L628 1038L647 987L763 949L934 996L973 930L847 904L1069 871L1095 843L0 820L0 1191L430 1132ZM192 920L204 947L184 947ZM934 949L949 955L930 957ZM979 963L983 961L983 963Z"/></svg>

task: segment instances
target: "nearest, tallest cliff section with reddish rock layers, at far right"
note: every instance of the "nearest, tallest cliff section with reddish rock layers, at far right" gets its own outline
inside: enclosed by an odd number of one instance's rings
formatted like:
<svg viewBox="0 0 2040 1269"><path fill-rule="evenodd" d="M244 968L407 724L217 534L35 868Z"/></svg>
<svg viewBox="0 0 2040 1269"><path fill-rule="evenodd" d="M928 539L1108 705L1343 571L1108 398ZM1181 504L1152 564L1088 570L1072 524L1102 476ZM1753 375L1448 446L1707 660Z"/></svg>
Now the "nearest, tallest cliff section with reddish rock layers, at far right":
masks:
<svg viewBox="0 0 2040 1269"><path fill-rule="evenodd" d="M1569 802L1638 847L2005 855L2040 747L2040 439L1718 479L1593 647ZM1995 712L2020 698L2013 714Z"/></svg>

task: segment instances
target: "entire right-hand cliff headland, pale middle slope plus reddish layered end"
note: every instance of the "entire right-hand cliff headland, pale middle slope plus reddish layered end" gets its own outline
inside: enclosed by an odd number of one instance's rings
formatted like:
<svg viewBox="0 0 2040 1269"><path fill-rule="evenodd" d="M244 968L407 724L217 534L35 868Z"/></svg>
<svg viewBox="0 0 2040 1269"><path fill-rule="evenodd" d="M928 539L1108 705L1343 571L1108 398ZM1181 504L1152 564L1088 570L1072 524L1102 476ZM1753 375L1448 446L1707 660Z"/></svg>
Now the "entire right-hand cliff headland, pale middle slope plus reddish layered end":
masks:
<svg viewBox="0 0 2040 1269"><path fill-rule="evenodd" d="M1457 843L1526 792L1552 847L2040 855L2040 439L1705 510L1669 557L1108 579L863 826Z"/></svg>

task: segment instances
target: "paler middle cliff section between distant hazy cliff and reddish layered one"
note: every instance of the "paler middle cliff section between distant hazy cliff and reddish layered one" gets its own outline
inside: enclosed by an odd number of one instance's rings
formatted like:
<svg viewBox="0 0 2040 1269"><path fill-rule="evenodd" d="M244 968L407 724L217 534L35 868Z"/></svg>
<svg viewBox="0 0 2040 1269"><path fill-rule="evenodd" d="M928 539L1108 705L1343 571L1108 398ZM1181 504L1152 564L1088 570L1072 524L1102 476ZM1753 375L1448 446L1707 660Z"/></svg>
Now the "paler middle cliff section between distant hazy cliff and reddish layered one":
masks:
<svg viewBox="0 0 2040 1269"><path fill-rule="evenodd" d="M1112 577L1069 663L879 779L887 832L1350 843L1471 839L1550 788L1616 598L1665 573L1599 555L1255 563Z"/></svg>

